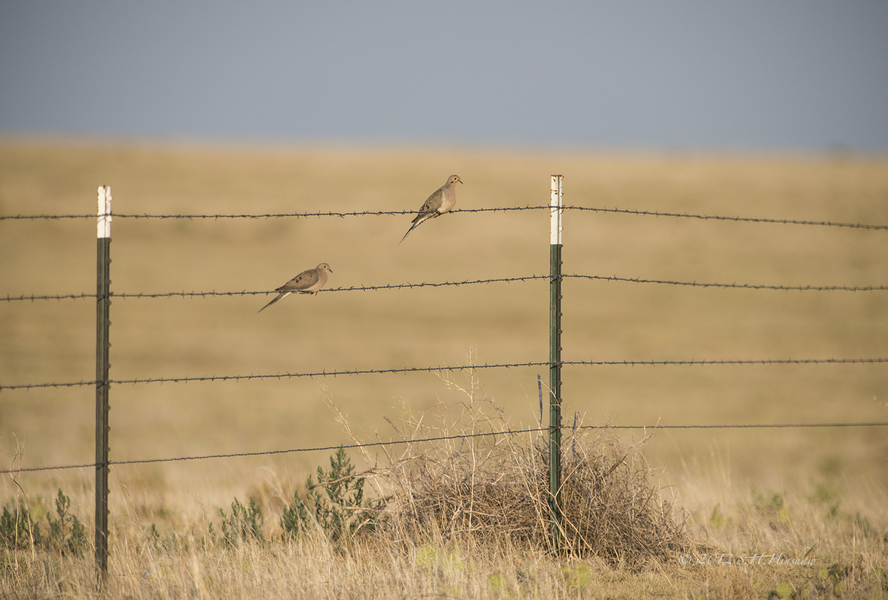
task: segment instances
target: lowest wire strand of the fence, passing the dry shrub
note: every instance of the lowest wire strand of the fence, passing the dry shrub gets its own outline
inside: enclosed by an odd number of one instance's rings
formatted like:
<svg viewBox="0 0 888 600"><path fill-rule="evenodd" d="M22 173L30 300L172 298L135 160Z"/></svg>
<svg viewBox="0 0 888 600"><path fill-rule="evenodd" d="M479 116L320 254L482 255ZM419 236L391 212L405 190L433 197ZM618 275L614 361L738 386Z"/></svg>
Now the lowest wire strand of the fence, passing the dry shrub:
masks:
<svg viewBox="0 0 888 600"><path fill-rule="evenodd" d="M578 430L578 429L642 429L642 430L657 430L657 429L814 429L814 428L851 428L851 427L888 427L888 422L873 422L873 423L751 423L751 424L716 424L716 425L580 425L580 426L571 426L571 425L562 425L562 430ZM417 438L417 439L409 439L409 440L390 440L387 442L368 442L368 443L355 443L355 444L339 444L336 446L320 446L313 448L289 448L286 450L265 450L259 452L234 452L230 454L203 454L197 456L177 456L171 458L148 458L148 459L137 459L137 460L120 460L120 461L108 461L107 465L109 467L113 466L121 466L121 465L145 465L145 464L154 464L154 463L167 463L167 462L185 462L185 461L195 461L195 460L210 460L210 459L222 459L222 458L251 458L256 456L274 456L280 454L295 454L295 453L307 453L307 452L330 452L339 450L342 448L343 450L354 450L358 448L376 448L380 446L400 446L406 444L424 444L429 442L440 442L440 441L452 441L452 440L464 440L470 438L480 438L480 437L495 437L499 435L519 435L525 433L548 433L550 430L549 427L533 427L530 429L509 429L506 431L489 431L483 433L462 433L462 434L454 434L454 435L443 435L437 437L429 437L429 438ZM6 469L0 470L0 475L8 475L8 474L18 474L18 473L33 473L38 471L61 471L61 470L69 470L69 469L85 469L85 468L95 468L100 466L99 463L86 463L86 464L78 464L78 465L59 465L59 466L51 466L51 467L20 467L17 469Z"/></svg>

